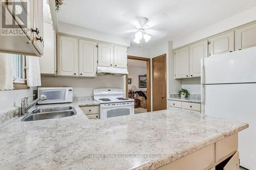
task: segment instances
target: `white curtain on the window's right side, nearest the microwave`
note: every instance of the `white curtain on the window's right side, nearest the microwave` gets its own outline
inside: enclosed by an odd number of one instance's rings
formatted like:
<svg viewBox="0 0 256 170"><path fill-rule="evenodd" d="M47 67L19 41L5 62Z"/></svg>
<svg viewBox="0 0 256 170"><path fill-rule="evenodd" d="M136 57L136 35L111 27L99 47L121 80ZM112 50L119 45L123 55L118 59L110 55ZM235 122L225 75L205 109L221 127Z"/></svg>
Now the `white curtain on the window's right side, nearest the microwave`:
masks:
<svg viewBox="0 0 256 170"><path fill-rule="evenodd" d="M28 87L41 86L39 58L26 56L26 71Z"/></svg>

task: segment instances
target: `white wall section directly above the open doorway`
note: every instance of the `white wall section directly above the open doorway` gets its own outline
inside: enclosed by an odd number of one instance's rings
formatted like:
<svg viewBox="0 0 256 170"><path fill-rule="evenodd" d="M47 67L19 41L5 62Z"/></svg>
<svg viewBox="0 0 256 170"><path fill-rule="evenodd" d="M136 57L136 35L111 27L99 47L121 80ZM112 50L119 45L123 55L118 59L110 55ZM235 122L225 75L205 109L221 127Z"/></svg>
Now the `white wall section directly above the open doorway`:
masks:
<svg viewBox="0 0 256 170"><path fill-rule="evenodd" d="M150 48L141 48L138 45L131 44L127 51L129 56L136 56L136 57L144 57L144 58L151 58L151 49Z"/></svg>

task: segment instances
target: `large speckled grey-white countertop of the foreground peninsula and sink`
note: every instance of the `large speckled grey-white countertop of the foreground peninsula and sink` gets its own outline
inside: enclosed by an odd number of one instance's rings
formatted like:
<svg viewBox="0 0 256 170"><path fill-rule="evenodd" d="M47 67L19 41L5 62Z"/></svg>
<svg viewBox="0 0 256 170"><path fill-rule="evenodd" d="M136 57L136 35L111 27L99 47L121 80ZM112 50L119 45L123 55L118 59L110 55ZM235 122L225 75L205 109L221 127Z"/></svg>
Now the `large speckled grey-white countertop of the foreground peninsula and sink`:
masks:
<svg viewBox="0 0 256 170"><path fill-rule="evenodd" d="M73 106L75 116L0 126L0 169L157 169L248 127L181 109L89 120Z"/></svg>

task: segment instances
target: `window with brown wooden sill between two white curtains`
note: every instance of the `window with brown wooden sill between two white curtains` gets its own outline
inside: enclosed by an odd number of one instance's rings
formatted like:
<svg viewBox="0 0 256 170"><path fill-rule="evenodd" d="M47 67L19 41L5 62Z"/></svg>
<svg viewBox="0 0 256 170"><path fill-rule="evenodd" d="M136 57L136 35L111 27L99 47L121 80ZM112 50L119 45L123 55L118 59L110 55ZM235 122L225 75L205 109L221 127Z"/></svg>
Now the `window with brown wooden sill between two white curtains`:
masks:
<svg viewBox="0 0 256 170"><path fill-rule="evenodd" d="M12 55L12 77L14 89L26 89L26 57L24 55Z"/></svg>

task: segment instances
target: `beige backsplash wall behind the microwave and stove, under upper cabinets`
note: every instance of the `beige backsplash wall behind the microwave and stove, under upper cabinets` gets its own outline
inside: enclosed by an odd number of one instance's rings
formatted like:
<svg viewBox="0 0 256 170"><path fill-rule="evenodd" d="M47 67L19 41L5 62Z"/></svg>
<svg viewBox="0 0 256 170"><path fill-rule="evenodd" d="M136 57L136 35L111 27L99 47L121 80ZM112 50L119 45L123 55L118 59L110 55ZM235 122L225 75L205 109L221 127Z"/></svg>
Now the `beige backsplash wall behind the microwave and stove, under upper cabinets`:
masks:
<svg viewBox="0 0 256 170"><path fill-rule="evenodd" d="M73 87L74 96L93 96L96 88L122 88L123 77L98 76L97 78L42 77L42 87Z"/></svg>

